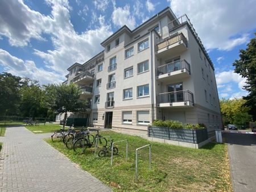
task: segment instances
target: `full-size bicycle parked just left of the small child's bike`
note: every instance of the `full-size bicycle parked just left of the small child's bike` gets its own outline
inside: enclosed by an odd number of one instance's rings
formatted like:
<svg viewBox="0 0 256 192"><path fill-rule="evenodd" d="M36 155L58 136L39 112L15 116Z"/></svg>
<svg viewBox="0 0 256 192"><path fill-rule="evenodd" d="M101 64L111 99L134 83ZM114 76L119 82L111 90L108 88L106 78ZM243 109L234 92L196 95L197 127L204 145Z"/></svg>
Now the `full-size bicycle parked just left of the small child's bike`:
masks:
<svg viewBox="0 0 256 192"><path fill-rule="evenodd" d="M93 141L89 140L89 137L87 135L84 135L83 138L77 139L73 145L73 150L79 154L84 153L86 148L91 148L93 144L96 144L96 139L101 138L99 131L97 130L97 133L95 137L93 138ZM108 144L108 141L103 137L101 139L98 139L100 144L103 145L103 147L106 147Z"/></svg>

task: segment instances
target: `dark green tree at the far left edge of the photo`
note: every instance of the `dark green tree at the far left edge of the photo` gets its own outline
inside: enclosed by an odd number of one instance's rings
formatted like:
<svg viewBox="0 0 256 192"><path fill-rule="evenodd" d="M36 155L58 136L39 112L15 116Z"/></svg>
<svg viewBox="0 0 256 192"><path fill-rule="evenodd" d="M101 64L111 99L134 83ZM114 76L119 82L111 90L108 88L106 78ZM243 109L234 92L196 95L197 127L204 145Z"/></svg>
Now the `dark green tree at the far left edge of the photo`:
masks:
<svg viewBox="0 0 256 192"><path fill-rule="evenodd" d="M0 74L0 114L16 115L20 101L22 78L10 73Z"/></svg>

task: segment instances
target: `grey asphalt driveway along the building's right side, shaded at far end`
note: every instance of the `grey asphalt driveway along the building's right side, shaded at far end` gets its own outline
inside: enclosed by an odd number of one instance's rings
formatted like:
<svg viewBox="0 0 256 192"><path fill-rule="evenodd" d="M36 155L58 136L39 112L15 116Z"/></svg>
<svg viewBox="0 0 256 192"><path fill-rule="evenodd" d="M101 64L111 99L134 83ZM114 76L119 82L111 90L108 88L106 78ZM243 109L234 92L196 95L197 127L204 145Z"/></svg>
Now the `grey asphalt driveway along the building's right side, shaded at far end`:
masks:
<svg viewBox="0 0 256 192"><path fill-rule="evenodd" d="M256 135L224 133L234 192L256 190Z"/></svg>

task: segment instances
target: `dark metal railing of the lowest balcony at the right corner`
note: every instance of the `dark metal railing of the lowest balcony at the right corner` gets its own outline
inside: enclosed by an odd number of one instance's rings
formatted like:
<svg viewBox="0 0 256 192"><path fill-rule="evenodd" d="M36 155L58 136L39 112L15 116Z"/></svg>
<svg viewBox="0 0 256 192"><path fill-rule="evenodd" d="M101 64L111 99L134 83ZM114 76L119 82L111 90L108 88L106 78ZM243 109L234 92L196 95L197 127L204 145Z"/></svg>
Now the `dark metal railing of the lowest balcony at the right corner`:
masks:
<svg viewBox="0 0 256 192"><path fill-rule="evenodd" d="M157 103L194 102L193 93L188 90L160 93L157 95Z"/></svg>

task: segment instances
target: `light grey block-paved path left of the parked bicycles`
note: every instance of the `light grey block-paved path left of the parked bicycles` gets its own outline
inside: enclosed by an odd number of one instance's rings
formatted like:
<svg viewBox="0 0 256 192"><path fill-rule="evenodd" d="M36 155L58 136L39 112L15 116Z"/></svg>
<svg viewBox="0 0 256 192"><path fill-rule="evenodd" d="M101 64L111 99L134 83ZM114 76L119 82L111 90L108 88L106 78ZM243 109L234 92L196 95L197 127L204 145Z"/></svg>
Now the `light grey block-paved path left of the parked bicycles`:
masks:
<svg viewBox="0 0 256 192"><path fill-rule="evenodd" d="M8 127L0 154L0 191L111 191L24 127Z"/></svg>

